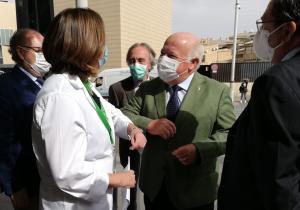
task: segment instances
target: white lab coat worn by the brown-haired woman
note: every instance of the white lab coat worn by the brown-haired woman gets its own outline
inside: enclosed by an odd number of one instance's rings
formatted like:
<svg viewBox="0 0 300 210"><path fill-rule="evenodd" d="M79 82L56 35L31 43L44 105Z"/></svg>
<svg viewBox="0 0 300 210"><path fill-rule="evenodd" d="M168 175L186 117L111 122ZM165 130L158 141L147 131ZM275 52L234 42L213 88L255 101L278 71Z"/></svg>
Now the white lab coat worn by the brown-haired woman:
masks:
<svg viewBox="0 0 300 210"><path fill-rule="evenodd" d="M98 96L112 133L127 139L131 121ZM41 176L40 209L112 209L108 173L114 145L77 76L54 74L46 80L34 106L32 138Z"/></svg>

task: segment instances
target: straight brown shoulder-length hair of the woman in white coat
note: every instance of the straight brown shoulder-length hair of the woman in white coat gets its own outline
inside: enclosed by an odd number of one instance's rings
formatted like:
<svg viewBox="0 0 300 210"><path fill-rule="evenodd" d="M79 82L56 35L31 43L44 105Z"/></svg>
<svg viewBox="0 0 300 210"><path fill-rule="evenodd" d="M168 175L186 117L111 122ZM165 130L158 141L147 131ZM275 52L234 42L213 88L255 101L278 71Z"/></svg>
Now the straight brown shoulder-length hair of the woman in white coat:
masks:
<svg viewBox="0 0 300 210"><path fill-rule="evenodd" d="M98 13L91 9L66 9L52 21L43 52L52 65L52 73L67 72L86 81L99 72L97 60L103 54L104 43L104 23Z"/></svg>

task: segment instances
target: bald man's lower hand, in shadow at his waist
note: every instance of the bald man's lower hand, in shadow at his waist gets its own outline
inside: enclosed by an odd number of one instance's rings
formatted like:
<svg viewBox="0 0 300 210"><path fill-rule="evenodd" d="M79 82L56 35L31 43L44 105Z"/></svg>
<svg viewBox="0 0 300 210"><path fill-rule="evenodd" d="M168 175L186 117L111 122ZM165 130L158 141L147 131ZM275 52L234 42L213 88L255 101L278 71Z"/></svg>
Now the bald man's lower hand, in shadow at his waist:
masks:
<svg viewBox="0 0 300 210"><path fill-rule="evenodd" d="M197 150L194 144L186 144L172 152L183 165L190 165L196 161Z"/></svg>

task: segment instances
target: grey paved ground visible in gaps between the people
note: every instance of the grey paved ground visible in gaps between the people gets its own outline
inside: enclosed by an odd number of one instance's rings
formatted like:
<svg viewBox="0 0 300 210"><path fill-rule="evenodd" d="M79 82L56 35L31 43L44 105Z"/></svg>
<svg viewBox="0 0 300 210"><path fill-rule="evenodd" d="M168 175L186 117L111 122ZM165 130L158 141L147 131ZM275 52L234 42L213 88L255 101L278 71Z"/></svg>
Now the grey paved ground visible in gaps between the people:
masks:
<svg viewBox="0 0 300 210"><path fill-rule="evenodd" d="M235 114L238 117L242 111L244 110L244 108L246 107L246 104L243 103L239 103L239 102L234 102L234 109L235 109ZM222 168L222 163L223 163L223 157L220 157L220 167ZM117 157L117 170L122 170L122 167L120 165L119 159ZM144 206L143 206L143 195L142 192L139 192L139 202L138 202L138 209L139 210L144 210ZM122 196L121 196L121 192L118 191L118 208L116 210L123 210L122 209ZM215 207L216 208L216 207ZM0 210L13 210L9 199L2 193L0 194Z"/></svg>

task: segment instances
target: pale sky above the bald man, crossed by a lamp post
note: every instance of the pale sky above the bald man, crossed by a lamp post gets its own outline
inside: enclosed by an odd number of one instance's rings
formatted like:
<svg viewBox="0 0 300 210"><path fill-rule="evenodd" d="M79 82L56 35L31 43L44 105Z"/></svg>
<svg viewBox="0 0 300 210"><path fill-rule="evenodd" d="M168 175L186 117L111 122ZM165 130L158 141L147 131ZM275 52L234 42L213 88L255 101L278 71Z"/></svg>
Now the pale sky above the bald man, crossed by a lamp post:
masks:
<svg viewBox="0 0 300 210"><path fill-rule="evenodd" d="M238 32L256 31L269 0L240 0ZM172 31L189 31L200 38L233 35L235 0L173 0Z"/></svg>

